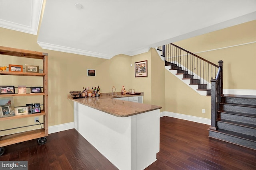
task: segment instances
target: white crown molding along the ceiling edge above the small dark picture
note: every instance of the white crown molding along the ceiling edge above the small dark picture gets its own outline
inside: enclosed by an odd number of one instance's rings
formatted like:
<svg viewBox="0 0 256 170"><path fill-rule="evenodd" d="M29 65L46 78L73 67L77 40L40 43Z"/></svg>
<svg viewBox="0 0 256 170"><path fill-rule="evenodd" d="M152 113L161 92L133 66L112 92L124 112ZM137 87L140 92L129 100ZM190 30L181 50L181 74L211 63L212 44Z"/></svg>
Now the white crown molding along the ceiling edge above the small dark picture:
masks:
<svg viewBox="0 0 256 170"><path fill-rule="evenodd" d="M53 44L48 44L48 43L42 43L37 41L38 45L42 47L42 49L48 49L48 50L53 50L53 51L61 51L65 53L73 53L73 54L79 54L79 55L86 55L90 57L98 57L102 59L111 59L113 56L112 55L106 55L102 53L95 53L92 51L85 51L85 50L80 50L80 49L74 49L70 47L64 47L60 45L53 45Z"/></svg>

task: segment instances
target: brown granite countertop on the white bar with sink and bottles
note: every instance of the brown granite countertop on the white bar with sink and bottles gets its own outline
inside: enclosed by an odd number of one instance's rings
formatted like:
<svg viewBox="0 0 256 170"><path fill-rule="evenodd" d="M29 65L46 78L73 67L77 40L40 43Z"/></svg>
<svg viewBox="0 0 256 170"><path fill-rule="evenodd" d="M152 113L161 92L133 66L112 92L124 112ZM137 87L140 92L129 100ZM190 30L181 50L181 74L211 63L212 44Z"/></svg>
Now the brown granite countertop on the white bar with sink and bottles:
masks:
<svg viewBox="0 0 256 170"><path fill-rule="evenodd" d="M126 94L120 96L111 96L111 93L101 93L100 97L80 99L73 99L72 96L68 94L68 100L78 102L85 106L92 107L94 109L109 113L117 117L128 117L162 108L161 106L155 106L151 104L141 104L115 99L132 96L143 96L143 93L141 93L140 95Z"/></svg>

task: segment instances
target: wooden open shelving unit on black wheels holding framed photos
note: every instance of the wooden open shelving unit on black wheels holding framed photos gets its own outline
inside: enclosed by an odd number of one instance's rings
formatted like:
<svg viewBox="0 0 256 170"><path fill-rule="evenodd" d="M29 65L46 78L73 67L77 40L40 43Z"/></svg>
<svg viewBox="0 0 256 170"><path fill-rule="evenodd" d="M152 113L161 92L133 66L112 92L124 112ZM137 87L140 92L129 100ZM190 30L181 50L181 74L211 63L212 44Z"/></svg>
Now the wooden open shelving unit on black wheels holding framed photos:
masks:
<svg viewBox="0 0 256 170"><path fill-rule="evenodd" d="M16 57L26 57L30 59L42 59L43 62L43 73L30 73L30 72L9 72L0 71L1 76L40 76L43 77L43 93L34 94L1 94L0 98L4 97L17 97L17 96L42 96L43 97L43 109L41 113L27 114L27 115L16 115L10 117L2 117L1 121L8 121L12 119L21 119L28 117L43 116L44 126L42 129L30 130L21 133L14 133L0 137L0 155L4 152L3 147L20 143L32 139L38 138L38 144L42 145L46 142L46 136L48 136L48 53L42 53L37 51L28 51L23 49L15 49L9 47L0 46L0 55L9 55Z"/></svg>

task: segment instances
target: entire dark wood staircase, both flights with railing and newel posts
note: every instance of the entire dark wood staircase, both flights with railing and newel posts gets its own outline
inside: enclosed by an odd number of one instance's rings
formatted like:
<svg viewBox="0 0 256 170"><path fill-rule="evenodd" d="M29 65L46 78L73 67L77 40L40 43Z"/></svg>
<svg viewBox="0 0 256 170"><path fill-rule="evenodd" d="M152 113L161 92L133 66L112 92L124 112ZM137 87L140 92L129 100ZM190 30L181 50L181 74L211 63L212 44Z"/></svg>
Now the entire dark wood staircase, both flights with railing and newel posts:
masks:
<svg viewBox="0 0 256 170"><path fill-rule="evenodd" d="M213 64L174 44L157 50L166 69L211 96L209 137L256 150L256 96L223 94L223 61Z"/></svg>

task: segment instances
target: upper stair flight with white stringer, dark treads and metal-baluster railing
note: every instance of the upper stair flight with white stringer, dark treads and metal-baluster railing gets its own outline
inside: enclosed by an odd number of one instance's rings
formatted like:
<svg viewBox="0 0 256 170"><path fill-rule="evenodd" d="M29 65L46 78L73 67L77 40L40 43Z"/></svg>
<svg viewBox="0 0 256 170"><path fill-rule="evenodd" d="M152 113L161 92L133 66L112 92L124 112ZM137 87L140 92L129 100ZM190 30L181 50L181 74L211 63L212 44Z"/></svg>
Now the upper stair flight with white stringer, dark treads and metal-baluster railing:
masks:
<svg viewBox="0 0 256 170"><path fill-rule="evenodd" d="M202 96L211 96L210 80L216 77L218 65L175 44L157 48L164 57L166 69Z"/></svg>

